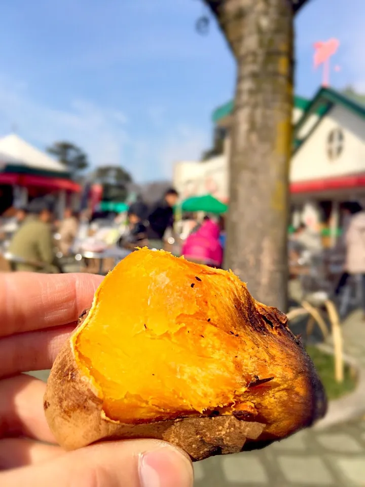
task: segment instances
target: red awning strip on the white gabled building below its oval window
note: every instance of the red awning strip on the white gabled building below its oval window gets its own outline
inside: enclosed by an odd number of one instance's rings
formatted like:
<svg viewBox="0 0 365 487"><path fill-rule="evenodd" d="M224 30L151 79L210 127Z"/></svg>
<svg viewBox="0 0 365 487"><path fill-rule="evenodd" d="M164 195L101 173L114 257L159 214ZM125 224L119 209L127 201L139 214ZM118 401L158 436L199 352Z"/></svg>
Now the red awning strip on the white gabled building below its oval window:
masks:
<svg viewBox="0 0 365 487"><path fill-rule="evenodd" d="M365 175L342 176L339 178L300 181L290 184L290 193L316 193L336 189L357 189L365 187Z"/></svg>

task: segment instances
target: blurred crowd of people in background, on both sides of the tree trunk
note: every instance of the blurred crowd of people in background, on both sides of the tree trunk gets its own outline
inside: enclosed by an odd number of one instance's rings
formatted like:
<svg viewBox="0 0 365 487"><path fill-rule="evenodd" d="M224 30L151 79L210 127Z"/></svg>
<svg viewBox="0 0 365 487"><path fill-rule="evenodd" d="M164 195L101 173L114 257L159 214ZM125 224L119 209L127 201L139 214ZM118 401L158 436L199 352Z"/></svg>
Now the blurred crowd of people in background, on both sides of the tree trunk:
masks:
<svg viewBox="0 0 365 487"><path fill-rule="evenodd" d="M47 199L33 199L13 212L13 232L7 251L17 257L14 270L62 272L57 256L78 252L100 252L105 248L124 249L127 255L137 247L165 249L188 260L215 267L223 263L224 218L185 213L175 225L174 207L178 193L171 188L152 207L141 198L132 203L127 215L88 211L77 214L67 207L63 218L54 219L54 208ZM98 223L99 222L99 223ZM102 224L100 226L100 222ZM106 222L106 225L105 225ZM334 285L338 299L351 282L357 280L358 295L365 316L365 211L358 202L341 206L342 235L337 253L342 254L342 274ZM1 232L1 230L0 230ZM289 237L289 260L309 264L320 259L323 239L318 231L301 223Z"/></svg>

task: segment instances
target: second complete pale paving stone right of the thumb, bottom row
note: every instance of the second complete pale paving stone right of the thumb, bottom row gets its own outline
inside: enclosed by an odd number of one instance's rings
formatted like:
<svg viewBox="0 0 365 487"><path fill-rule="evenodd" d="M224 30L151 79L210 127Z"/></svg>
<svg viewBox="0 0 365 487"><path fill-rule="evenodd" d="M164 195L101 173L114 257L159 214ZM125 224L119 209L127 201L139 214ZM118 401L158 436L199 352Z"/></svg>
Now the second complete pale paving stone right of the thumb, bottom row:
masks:
<svg viewBox="0 0 365 487"><path fill-rule="evenodd" d="M319 457L280 456L278 464L289 482L295 484L335 485L334 478Z"/></svg>

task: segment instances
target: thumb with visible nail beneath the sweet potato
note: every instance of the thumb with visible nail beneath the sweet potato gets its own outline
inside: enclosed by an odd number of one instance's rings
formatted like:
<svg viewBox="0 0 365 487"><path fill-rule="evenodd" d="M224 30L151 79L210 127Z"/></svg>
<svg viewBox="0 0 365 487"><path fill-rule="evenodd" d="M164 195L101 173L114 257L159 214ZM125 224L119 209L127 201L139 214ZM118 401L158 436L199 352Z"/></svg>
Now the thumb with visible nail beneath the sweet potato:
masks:
<svg viewBox="0 0 365 487"><path fill-rule="evenodd" d="M192 487L191 461L169 443L99 443L34 467L0 474L3 487Z"/></svg>

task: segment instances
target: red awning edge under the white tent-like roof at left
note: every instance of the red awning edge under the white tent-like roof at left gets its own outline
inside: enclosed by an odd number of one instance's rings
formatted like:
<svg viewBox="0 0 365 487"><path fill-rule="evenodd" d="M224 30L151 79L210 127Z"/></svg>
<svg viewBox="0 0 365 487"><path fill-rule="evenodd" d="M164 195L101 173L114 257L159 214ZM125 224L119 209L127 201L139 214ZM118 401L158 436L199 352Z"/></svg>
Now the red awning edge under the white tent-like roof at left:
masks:
<svg viewBox="0 0 365 487"><path fill-rule="evenodd" d="M65 190L72 193L80 193L81 186L74 181L62 178L47 178L46 176L32 176L11 172L0 172L0 184L12 184L19 186L35 186L51 190Z"/></svg>

